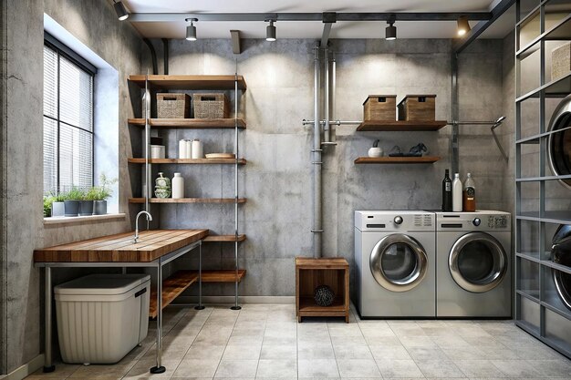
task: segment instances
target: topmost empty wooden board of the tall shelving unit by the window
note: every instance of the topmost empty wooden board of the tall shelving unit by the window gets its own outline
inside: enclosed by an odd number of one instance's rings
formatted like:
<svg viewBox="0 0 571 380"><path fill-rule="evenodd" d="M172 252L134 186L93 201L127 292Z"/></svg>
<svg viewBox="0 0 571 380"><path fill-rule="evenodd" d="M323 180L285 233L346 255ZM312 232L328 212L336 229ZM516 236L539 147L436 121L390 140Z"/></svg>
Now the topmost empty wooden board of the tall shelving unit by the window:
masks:
<svg viewBox="0 0 571 380"><path fill-rule="evenodd" d="M134 75L129 80L139 87L145 87L145 79L153 87L164 89L234 89L234 75L229 76L165 76L165 75ZM243 76L238 76L238 88L245 90L246 81Z"/></svg>

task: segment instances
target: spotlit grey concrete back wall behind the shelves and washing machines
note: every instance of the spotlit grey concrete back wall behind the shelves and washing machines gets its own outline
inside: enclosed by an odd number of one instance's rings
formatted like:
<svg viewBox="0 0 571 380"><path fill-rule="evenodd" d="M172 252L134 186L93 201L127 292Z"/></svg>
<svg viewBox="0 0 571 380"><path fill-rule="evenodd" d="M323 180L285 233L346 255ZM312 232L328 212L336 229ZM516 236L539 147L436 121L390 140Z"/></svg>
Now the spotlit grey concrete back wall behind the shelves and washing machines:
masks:
<svg viewBox="0 0 571 380"><path fill-rule="evenodd" d="M313 40L243 41L234 56L229 41L171 42L170 74L232 74L236 64L248 89L239 113L247 121L240 132L240 151L248 164L240 169L240 266L248 271L241 293L293 295L294 257L310 256ZM436 94L437 119L451 113L450 40L333 40L337 52L337 113L335 118L359 120L369 94ZM159 52L159 56L161 53ZM236 59L237 61L234 61ZM477 42L461 56L462 118L495 119L503 113L503 42ZM160 66L161 67L161 66ZM231 94L230 92L228 93ZM233 108L234 109L234 108ZM355 210L412 210L441 207L441 179L450 168L451 128L438 132L357 132L337 128L337 147L324 153L324 255L353 262ZM206 152L232 151L234 132L172 130L163 132L167 156L176 157L178 139L200 138ZM442 159L433 165L355 165L374 139L388 152L394 145L408 151L424 142ZM489 128L462 129L462 177L471 171L478 186L480 209L506 210L504 170ZM191 197L232 197L231 168L163 166L172 177L181 171ZM133 192L138 191L136 187ZM161 205L152 209L165 228L210 228L233 233L231 205ZM232 268L234 248L213 244L203 248L204 267ZM182 265L196 265L192 258ZM192 289L189 294L195 293ZM205 294L233 294L234 286L214 284Z"/></svg>

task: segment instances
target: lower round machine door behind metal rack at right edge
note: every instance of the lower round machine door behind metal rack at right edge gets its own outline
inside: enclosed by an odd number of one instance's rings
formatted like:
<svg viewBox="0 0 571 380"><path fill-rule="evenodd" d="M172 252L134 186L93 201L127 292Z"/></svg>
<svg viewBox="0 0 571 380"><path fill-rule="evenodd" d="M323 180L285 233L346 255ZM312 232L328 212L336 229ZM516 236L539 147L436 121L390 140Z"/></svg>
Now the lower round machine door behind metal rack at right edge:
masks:
<svg viewBox="0 0 571 380"><path fill-rule="evenodd" d="M551 260L571 269L571 225L561 224L555 231L551 247ZM553 280L559 298L571 310L571 274L554 269Z"/></svg>

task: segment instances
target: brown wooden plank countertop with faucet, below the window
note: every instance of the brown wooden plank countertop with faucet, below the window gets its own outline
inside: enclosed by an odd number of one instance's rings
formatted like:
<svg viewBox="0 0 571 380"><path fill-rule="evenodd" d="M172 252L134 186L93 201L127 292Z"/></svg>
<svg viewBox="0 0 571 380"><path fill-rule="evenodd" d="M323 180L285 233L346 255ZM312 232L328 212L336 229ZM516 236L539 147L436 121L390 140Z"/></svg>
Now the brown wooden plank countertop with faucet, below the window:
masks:
<svg viewBox="0 0 571 380"><path fill-rule="evenodd" d="M140 231L76 241L34 251L34 262L152 262L162 255L202 240L208 230Z"/></svg>

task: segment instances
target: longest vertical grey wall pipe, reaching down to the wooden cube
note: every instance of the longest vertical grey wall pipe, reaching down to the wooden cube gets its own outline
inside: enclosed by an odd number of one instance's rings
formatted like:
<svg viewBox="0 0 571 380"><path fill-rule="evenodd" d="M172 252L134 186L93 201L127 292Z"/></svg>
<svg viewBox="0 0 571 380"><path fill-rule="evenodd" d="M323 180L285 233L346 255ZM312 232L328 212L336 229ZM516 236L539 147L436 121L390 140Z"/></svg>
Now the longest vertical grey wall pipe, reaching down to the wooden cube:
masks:
<svg viewBox="0 0 571 380"><path fill-rule="evenodd" d="M319 47L315 48L313 128L313 255L321 257L321 124L319 102Z"/></svg>

